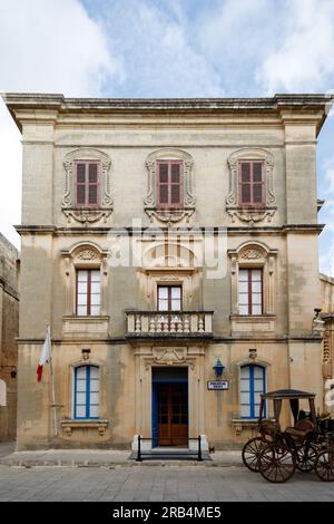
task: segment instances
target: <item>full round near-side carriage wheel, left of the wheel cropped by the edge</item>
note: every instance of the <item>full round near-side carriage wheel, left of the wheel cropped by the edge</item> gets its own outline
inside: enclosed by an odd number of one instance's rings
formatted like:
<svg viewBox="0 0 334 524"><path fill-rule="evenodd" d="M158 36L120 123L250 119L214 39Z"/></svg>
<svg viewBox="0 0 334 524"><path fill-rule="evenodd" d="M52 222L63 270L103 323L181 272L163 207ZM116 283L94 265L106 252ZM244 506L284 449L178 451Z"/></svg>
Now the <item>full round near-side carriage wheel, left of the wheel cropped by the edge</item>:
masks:
<svg viewBox="0 0 334 524"><path fill-rule="evenodd" d="M295 473L296 462L287 447L269 444L259 454L258 469L266 481L283 483Z"/></svg>

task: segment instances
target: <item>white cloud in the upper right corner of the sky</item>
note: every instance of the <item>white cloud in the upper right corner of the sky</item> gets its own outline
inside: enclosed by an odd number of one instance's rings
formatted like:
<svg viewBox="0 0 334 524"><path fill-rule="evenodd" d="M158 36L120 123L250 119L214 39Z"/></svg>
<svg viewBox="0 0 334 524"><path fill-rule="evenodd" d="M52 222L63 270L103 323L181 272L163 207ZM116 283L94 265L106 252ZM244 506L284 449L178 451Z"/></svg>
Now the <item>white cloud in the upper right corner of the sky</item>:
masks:
<svg viewBox="0 0 334 524"><path fill-rule="evenodd" d="M276 49L257 68L258 84L271 94L326 89L334 75L333 0L291 1L286 20L289 23Z"/></svg>

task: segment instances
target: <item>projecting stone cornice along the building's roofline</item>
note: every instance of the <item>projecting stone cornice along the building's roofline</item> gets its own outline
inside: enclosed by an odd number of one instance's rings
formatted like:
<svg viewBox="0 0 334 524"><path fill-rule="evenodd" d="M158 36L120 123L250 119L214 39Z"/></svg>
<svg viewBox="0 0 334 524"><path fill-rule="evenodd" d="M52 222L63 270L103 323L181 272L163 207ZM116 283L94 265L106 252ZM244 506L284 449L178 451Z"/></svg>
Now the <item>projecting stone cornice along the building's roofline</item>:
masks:
<svg viewBox="0 0 334 524"><path fill-rule="evenodd" d="M278 122L314 123L321 129L333 96L322 94L275 95L272 98L65 98L60 94L3 94L2 98L19 129L28 120L53 123L60 115L155 114L230 115L244 119L247 115L274 114ZM308 118L310 117L310 118Z"/></svg>

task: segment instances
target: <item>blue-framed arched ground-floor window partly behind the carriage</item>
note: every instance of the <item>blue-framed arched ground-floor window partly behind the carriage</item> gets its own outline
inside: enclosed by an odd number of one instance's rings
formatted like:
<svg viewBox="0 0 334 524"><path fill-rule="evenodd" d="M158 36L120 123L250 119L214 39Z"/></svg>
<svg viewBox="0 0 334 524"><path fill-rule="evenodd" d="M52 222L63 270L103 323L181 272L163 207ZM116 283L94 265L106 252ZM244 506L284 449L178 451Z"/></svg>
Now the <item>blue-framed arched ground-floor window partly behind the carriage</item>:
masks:
<svg viewBox="0 0 334 524"><path fill-rule="evenodd" d="M266 369L258 365L240 368L240 416L257 418L259 415L261 394L266 390ZM265 414L264 414L265 416Z"/></svg>

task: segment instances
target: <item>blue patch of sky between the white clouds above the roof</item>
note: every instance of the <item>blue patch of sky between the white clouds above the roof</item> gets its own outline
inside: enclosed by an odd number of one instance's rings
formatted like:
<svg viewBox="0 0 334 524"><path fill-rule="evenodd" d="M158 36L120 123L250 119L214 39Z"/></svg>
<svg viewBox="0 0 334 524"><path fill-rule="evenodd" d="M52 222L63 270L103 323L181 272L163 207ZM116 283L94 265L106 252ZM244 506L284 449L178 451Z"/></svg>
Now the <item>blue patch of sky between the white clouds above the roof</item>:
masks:
<svg viewBox="0 0 334 524"><path fill-rule="evenodd" d="M122 96L224 95L220 76L193 45L189 20L176 2L167 9L166 2L115 0L102 6L99 22L108 27L114 49L122 57Z"/></svg>

